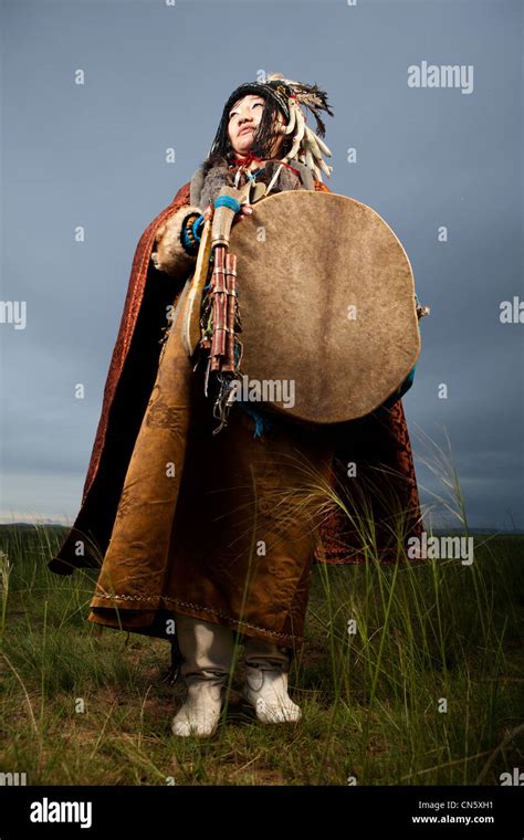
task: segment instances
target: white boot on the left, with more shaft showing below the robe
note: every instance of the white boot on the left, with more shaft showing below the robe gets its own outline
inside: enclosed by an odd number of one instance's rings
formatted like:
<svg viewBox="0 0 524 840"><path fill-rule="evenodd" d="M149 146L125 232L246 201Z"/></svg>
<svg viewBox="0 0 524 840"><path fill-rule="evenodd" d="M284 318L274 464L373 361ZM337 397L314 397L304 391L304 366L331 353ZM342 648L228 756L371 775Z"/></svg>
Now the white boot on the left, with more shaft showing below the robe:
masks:
<svg viewBox="0 0 524 840"><path fill-rule="evenodd" d="M188 693L172 720L171 731L179 737L211 737L220 720L224 686L233 661L233 631L179 613L176 615L176 626L182 654L180 674Z"/></svg>

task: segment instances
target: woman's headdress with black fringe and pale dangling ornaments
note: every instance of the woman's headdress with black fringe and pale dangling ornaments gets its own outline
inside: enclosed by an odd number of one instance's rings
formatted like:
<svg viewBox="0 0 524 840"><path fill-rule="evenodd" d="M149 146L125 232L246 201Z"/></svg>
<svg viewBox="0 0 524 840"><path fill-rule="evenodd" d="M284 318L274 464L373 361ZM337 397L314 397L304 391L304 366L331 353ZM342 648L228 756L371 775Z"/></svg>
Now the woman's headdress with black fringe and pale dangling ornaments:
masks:
<svg viewBox="0 0 524 840"><path fill-rule="evenodd" d="M232 92L224 105L217 135L209 150L209 158L216 155L224 158L231 156L232 149L228 136L229 113L232 106L248 94L258 94L265 99L264 113L253 135L252 154L269 159L274 140L280 133L283 133L281 153L284 154L280 159L282 164L292 165L295 160L308 167L317 180L322 181L322 172L329 178L333 167L327 166L323 155L331 157L332 153L322 140L326 127L321 117L322 111L333 116L333 109L327 103L327 94L316 84L294 82L291 78L284 78L281 73L271 73L265 82L247 82ZM303 107L308 108L315 117L316 134L306 125L307 117L304 115ZM275 119L277 112L284 116L285 126Z"/></svg>

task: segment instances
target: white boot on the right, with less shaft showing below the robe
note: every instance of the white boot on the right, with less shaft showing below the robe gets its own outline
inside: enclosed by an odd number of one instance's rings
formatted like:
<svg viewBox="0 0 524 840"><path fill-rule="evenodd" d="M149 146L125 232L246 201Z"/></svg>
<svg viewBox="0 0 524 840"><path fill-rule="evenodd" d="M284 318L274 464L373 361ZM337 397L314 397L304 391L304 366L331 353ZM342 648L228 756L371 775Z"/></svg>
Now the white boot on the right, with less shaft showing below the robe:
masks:
<svg viewBox="0 0 524 840"><path fill-rule="evenodd" d="M287 694L290 659L276 644L247 638L243 695L262 723L294 723L302 712Z"/></svg>

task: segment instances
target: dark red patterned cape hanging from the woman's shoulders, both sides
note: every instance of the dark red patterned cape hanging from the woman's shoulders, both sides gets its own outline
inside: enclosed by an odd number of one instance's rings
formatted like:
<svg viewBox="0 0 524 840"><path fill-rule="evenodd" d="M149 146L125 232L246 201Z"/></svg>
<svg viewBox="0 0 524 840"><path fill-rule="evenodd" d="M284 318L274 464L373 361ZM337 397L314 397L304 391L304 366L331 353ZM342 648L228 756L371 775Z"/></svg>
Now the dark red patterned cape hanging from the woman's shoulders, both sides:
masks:
<svg viewBox="0 0 524 840"><path fill-rule="evenodd" d="M315 189L329 191L318 181ZM179 189L138 242L81 510L60 552L49 564L57 574L71 574L75 567L99 566L107 548L134 443L155 382L166 306L172 304L184 285L155 269L150 260L155 234L168 217L189 203L189 182ZM401 400L389 410L334 427L334 435L337 441L334 486L349 510L358 506L363 492L367 493L370 505L364 514L368 523L367 542L375 543L382 561L394 561L399 555L394 527L398 512L402 511L405 536L421 532L419 495ZM357 463L357 476L348 481L347 465L352 462ZM350 501L346 495L349 490ZM354 527L340 507L327 514L321 533L323 549L315 556L317 563L364 559L361 524ZM87 545L82 556L77 555L77 540Z"/></svg>

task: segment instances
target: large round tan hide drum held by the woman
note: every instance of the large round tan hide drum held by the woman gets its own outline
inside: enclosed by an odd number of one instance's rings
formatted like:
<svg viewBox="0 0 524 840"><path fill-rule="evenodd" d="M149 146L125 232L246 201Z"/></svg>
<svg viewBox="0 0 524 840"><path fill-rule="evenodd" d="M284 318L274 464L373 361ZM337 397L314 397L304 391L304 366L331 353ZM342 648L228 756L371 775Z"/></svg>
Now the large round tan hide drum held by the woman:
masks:
<svg viewBox="0 0 524 840"><path fill-rule="evenodd" d="M230 250L241 399L252 392L294 419L337 423L370 413L399 388L420 353L415 282L375 210L336 193L280 192L233 225Z"/></svg>

